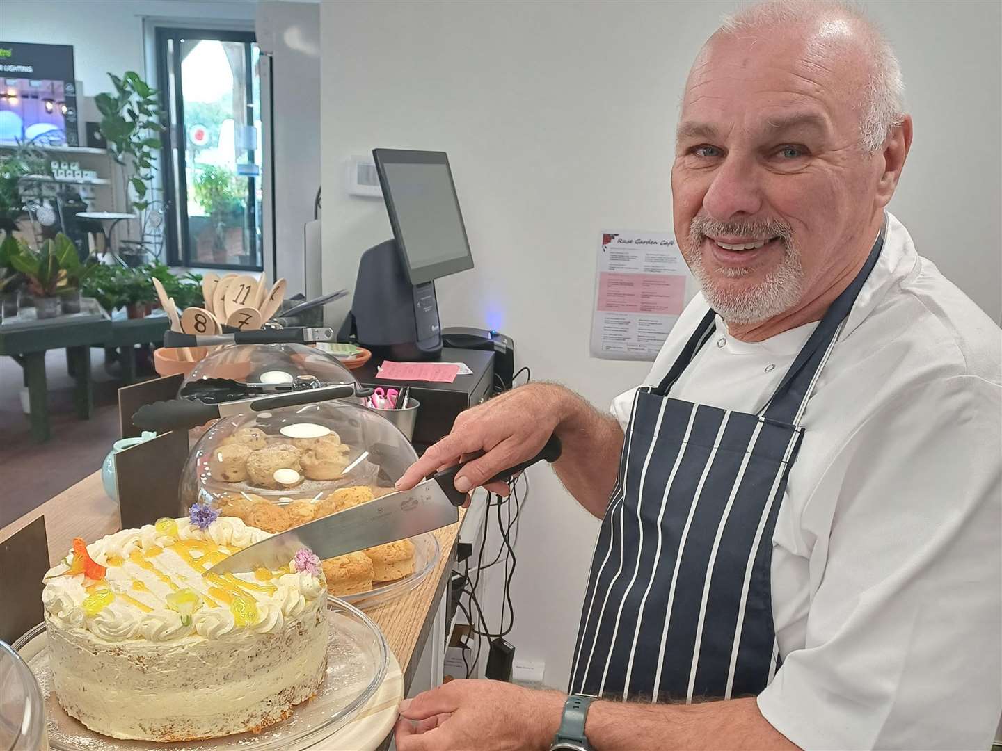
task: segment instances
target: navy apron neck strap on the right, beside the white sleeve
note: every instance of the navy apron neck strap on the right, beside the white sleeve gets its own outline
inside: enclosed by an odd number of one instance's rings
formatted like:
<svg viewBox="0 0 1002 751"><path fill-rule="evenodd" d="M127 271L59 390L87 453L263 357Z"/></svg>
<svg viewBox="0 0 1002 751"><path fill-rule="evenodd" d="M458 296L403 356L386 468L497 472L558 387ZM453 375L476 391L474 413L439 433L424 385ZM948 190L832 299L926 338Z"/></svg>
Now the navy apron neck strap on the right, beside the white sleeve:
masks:
<svg viewBox="0 0 1002 751"><path fill-rule="evenodd" d="M884 224L877 235L877 241L870 249L870 255L863 264L863 268L856 274L856 278L850 282L849 286L843 290L842 294L829 305L818 327L811 333L804 348L790 365L790 369L783 377L776 393L759 413L760 415L779 423L794 425L798 423L818 373L821 372L822 366L828 359L828 355L839 337L839 332L856 303L860 290L870 277L874 266L877 265L881 248L884 247L886 228L887 217L885 216Z"/></svg>

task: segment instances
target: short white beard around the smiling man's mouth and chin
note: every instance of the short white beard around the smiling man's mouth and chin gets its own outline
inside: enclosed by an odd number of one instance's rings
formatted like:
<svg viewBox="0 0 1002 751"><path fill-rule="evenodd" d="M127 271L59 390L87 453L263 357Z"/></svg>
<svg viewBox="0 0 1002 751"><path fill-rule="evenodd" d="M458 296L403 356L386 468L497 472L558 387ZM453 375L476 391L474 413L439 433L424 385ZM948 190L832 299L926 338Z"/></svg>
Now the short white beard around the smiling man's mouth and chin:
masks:
<svg viewBox="0 0 1002 751"><path fill-rule="evenodd" d="M774 268L763 281L740 290L721 288L703 264L702 248L690 248L689 269L702 287L706 302L729 323L759 323L786 312L801 301L804 292L804 267L800 253L787 243L783 262ZM718 268L716 275L730 278L746 276L742 268Z"/></svg>

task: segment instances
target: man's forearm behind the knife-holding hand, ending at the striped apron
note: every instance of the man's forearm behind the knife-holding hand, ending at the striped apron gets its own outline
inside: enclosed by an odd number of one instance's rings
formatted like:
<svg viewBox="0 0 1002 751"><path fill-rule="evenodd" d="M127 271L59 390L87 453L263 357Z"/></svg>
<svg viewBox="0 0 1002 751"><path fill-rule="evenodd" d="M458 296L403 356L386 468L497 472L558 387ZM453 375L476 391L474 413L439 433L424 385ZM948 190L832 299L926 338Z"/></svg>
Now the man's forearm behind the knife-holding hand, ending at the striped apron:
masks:
<svg viewBox="0 0 1002 751"><path fill-rule="evenodd" d="M623 432L610 415L603 415L584 399L562 387L565 417L554 433L563 444L563 456L553 465L560 482L594 516L601 518L615 487Z"/></svg>

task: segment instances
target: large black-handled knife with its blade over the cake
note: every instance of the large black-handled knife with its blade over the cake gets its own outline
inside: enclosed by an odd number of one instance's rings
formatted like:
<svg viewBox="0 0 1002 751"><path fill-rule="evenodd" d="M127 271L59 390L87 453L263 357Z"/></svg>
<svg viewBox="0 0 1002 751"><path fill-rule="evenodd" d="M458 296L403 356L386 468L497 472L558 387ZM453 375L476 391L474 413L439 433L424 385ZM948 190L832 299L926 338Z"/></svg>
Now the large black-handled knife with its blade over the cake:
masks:
<svg viewBox="0 0 1002 751"><path fill-rule="evenodd" d="M497 474L488 483L510 480L544 459L556 462L560 451L560 440L552 436L535 457ZM459 520L458 507L466 500L466 494L453 485L462 468L450 467L412 490L391 493L270 537L234 553L205 573L238 573L260 567L274 571L292 561L301 548L309 548L321 559L335 558L455 524Z"/></svg>

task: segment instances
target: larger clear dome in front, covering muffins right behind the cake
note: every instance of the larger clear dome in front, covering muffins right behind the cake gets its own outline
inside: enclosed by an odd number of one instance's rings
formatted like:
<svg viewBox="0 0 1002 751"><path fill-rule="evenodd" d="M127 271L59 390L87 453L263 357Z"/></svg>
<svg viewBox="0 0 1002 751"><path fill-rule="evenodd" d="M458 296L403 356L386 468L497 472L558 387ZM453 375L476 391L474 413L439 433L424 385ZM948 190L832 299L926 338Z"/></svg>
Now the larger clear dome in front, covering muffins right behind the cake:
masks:
<svg viewBox="0 0 1002 751"><path fill-rule="evenodd" d="M180 501L245 517L263 501L272 510L244 519L284 532L300 516L392 492L418 456L385 418L345 400L221 418L198 440L181 477ZM294 502L308 502L295 504ZM331 507L331 508L327 508ZM335 508L339 507L339 508Z"/></svg>

